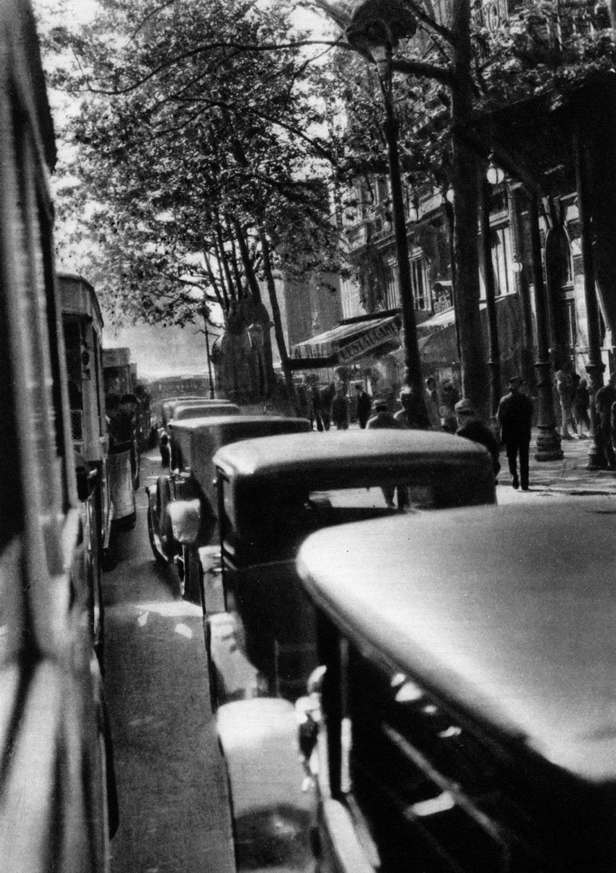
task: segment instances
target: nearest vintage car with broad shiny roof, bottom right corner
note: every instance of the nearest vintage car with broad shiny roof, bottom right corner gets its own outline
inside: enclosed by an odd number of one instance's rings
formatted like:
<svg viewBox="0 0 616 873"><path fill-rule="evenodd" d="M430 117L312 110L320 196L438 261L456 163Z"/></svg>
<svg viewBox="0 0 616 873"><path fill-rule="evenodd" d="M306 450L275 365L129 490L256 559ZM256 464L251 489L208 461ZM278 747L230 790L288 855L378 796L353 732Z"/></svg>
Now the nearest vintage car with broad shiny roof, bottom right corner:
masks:
<svg viewBox="0 0 616 873"><path fill-rule="evenodd" d="M322 869L616 869L613 501L547 510L386 519L301 547Z"/></svg>

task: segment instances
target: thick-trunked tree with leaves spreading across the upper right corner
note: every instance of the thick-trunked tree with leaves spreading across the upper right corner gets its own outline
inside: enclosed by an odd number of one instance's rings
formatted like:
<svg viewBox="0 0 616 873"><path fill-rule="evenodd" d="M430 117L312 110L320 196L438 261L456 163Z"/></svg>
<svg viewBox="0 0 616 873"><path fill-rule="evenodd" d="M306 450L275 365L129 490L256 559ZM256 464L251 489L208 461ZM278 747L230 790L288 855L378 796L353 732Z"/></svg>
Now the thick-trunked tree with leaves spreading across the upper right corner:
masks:
<svg viewBox="0 0 616 873"><path fill-rule="evenodd" d="M332 17L352 37L346 48L359 51L369 62L371 43L382 38L384 27L388 29L394 70L411 83L399 83L401 99L408 100L405 111L415 116L413 135L402 140L411 165L407 168L415 178L431 177L442 190L450 179L455 191L451 211L462 387L464 395L487 412L478 312L478 166L476 153L460 134L472 127L478 113L538 93L551 93L558 104L575 83L612 68L614 44L607 10L600 4L591 10L531 0L492 31L481 7L471 15L469 0L453 0L445 22L435 17L430 3L414 0L311 0L311 5ZM400 38L408 16L418 25L412 40ZM446 107L445 126L439 102ZM366 107L359 108L359 115L366 116Z"/></svg>

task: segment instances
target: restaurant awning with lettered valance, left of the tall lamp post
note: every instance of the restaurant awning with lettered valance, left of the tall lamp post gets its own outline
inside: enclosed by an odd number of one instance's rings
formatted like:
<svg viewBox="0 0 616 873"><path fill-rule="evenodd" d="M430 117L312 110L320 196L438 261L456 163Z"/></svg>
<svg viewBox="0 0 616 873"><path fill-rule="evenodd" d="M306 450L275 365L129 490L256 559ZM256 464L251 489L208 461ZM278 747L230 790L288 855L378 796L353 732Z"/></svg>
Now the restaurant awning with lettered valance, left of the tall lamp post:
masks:
<svg viewBox="0 0 616 873"><path fill-rule="evenodd" d="M293 346L291 365L297 369L298 361L302 361L302 365L307 362L308 366L323 367L348 364L387 342L397 340L399 332L398 315L341 324Z"/></svg>

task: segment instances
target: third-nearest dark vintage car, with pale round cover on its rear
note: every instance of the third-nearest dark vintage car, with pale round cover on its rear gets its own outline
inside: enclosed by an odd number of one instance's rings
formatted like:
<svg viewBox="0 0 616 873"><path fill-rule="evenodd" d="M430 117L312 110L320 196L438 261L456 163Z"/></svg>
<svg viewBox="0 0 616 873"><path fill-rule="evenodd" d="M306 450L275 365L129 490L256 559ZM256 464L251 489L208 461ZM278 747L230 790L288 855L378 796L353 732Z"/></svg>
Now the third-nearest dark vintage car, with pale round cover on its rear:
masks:
<svg viewBox="0 0 616 873"><path fill-rule="evenodd" d="M216 451L251 436L310 430L304 418L241 416L232 404L229 412L221 414L222 409L216 409L217 415L174 421L172 471L147 487L147 532L154 558L175 564L184 594L196 601L203 599L203 565L207 572L219 563L219 549L207 548L218 512L212 463Z"/></svg>

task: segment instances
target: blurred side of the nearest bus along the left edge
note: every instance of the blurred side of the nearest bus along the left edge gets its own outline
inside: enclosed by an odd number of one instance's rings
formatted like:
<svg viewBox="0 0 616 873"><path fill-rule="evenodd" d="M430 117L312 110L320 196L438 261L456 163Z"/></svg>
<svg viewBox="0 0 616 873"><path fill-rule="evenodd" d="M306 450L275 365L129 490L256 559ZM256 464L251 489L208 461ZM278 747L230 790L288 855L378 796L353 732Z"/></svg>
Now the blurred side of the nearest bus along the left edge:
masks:
<svg viewBox="0 0 616 873"><path fill-rule="evenodd" d="M113 771L72 443L31 4L0 5L0 870L109 870Z"/></svg>

